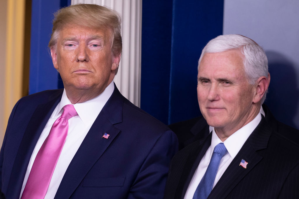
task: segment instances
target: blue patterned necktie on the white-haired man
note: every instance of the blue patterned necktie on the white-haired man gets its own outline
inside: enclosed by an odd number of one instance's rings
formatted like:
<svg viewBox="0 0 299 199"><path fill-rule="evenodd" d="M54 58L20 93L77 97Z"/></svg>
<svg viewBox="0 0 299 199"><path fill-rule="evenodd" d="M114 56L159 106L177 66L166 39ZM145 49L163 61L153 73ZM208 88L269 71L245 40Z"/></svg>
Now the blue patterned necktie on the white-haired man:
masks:
<svg viewBox="0 0 299 199"><path fill-rule="evenodd" d="M220 160L226 153L227 150L223 143L219 143L215 146L208 169L205 172L205 175L202 177L199 185L197 186L193 195L193 199L208 198L210 192L212 191Z"/></svg>

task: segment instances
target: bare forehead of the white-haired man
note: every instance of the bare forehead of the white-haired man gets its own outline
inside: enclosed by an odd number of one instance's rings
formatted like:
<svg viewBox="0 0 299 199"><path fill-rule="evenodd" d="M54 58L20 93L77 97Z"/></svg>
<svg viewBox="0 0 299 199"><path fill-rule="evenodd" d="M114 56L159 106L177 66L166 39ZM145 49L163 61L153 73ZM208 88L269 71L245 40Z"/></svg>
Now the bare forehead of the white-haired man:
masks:
<svg viewBox="0 0 299 199"><path fill-rule="evenodd" d="M205 53L198 75L241 75L244 72L242 53L239 49L220 53Z"/></svg>

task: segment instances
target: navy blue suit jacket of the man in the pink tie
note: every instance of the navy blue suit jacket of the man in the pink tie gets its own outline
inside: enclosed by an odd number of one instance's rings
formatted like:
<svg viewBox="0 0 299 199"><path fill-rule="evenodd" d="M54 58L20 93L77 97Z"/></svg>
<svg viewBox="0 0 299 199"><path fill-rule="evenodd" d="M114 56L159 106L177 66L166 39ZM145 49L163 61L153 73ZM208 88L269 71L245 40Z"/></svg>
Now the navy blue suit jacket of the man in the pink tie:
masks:
<svg viewBox="0 0 299 199"><path fill-rule="evenodd" d="M0 187L19 198L37 140L63 90L21 98L10 115L0 154ZM104 133L110 136L102 138ZM69 164L55 198L163 198L176 135L118 89L94 121Z"/></svg>

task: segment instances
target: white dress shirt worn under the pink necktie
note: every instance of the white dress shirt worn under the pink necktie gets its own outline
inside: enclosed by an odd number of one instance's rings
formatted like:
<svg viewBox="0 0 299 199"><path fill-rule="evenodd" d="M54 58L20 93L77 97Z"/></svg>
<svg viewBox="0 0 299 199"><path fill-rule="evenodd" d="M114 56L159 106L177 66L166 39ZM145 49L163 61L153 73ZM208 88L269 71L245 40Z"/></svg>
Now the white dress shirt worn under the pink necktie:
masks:
<svg viewBox="0 0 299 199"><path fill-rule="evenodd" d="M66 137L65 144L63 145L61 154L59 156L56 167L54 169L54 173L52 175L48 191L45 195L45 199L54 198L57 189L60 185L60 182L63 178L63 175L65 174L65 171L68 168L68 165L70 164L71 160L74 158L75 153L79 149L91 125L94 123L100 111L102 110L102 108L104 107L104 105L106 104L110 96L112 95L113 91L114 91L114 83L112 81L106 87L106 89L97 97L82 103L74 104L74 108L76 109L78 115L68 119L68 124L69 124L68 135ZM61 101L57 104L56 108L54 109L51 117L48 120L48 123L46 124L44 130L42 131L42 134L40 135L39 140L37 141L36 146L32 152L27 167L27 171L25 174L25 178L23 181L20 198L22 197L22 193L25 189L25 185L27 183L30 170L36 155L40 147L44 143L45 139L49 135L50 129L54 121L56 121L57 118L59 118L60 115L62 114L63 112L62 107L64 107L67 104L71 104L71 101L68 99L66 92L64 90Z"/></svg>

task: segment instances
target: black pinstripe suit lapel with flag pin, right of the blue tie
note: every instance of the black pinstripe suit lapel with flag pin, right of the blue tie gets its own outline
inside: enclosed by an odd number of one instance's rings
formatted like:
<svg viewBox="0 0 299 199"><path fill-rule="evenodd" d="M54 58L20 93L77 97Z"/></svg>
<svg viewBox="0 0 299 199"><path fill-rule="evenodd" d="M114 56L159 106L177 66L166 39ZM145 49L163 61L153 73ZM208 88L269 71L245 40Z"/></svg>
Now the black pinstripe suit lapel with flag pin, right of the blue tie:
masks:
<svg viewBox="0 0 299 199"><path fill-rule="evenodd" d="M261 160L257 151L267 147L271 129L267 126L264 117L257 128L251 133L239 153L223 173L208 198L225 198L234 187L253 169ZM248 162L247 168L239 166L241 160Z"/></svg>

